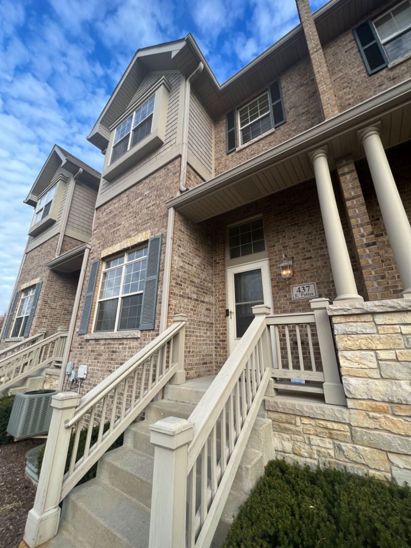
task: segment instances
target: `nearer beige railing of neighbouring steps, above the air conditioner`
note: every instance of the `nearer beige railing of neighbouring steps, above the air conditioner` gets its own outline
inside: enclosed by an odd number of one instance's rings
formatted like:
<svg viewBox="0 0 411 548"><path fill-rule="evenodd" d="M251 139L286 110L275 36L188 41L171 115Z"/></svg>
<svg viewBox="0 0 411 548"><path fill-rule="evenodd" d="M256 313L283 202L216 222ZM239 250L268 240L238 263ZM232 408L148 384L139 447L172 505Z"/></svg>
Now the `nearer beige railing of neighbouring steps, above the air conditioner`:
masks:
<svg viewBox="0 0 411 548"><path fill-rule="evenodd" d="M0 392L9 390L27 376L62 360L67 332L62 330L37 341L0 361Z"/></svg>

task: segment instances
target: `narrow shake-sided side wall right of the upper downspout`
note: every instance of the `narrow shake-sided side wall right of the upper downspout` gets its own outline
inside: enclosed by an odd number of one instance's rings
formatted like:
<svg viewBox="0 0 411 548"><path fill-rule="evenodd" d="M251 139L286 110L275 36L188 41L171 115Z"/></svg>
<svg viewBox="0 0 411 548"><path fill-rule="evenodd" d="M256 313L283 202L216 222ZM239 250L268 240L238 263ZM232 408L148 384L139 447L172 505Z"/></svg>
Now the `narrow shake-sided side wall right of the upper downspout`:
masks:
<svg viewBox="0 0 411 548"><path fill-rule="evenodd" d="M191 92L188 149L196 162L205 170L206 179L213 176L213 129L213 120L196 95Z"/></svg>

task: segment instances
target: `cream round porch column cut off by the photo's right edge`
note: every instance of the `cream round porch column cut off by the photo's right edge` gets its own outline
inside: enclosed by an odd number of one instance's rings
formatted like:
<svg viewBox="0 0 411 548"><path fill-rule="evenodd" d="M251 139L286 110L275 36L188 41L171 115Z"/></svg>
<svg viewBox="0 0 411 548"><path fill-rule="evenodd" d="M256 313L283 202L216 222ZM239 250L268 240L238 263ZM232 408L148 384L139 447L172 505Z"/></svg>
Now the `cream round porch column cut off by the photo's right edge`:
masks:
<svg viewBox="0 0 411 548"><path fill-rule="evenodd" d="M402 294L411 297L411 226L381 142L380 124L363 129L358 135L366 153L387 236L404 288Z"/></svg>

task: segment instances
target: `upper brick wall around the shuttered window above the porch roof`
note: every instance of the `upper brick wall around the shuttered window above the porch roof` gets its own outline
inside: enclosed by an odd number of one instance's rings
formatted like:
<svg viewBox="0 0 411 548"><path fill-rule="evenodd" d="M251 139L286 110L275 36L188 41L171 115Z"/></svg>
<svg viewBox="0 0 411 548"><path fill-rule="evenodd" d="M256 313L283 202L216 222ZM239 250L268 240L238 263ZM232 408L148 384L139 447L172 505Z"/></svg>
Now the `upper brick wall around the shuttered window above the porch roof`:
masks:
<svg viewBox="0 0 411 548"><path fill-rule="evenodd" d="M279 145L281 142L304 132L323 121L321 102L309 58L300 61L280 75L281 88L286 111L286 123L269 132L252 144L247 144L230 154L226 153L225 115L215 122L214 136L214 175L219 175L262 152ZM269 85L271 82L267 82ZM265 92L262 88L255 96ZM251 100L252 97L249 98ZM248 102L248 101L246 101ZM237 105L239 107L241 105ZM237 131L237 139L239 135Z"/></svg>

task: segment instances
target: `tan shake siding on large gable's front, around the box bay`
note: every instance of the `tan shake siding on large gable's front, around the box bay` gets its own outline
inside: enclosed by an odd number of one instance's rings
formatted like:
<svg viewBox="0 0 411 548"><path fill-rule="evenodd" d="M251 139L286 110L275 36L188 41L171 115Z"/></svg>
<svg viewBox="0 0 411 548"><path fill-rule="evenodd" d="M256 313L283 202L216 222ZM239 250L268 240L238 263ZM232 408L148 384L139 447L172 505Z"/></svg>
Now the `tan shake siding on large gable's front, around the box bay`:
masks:
<svg viewBox="0 0 411 548"><path fill-rule="evenodd" d="M155 75L147 76L142 82L138 92L135 96L144 93L144 91L155 83L158 78L160 78L163 73L156 73ZM152 76L155 76L152 80ZM181 83L181 74L180 72L166 72L165 76L167 77L169 83L172 86L170 90L169 100L168 100L168 109L167 109L167 122L165 127L165 139L164 144L159 147L156 151L147 155L141 160L141 162L136 163L132 168L128 169L122 175L120 175L115 181L109 182L105 179L102 179L100 185L100 193L98 197L98 204L107 199L108 197L112 198L116 196L117 193L127 190L130 186L134 185L137 181L141 179L141 171L149 170L152 164L155 164L165 155L172 151L173 147L178 145L179 135L178 135L178 118L179 118L179 98L180 98L180 83ZM150 81L149 81L150 79ZM177 154L177 151L176 151Z"/></svg>

